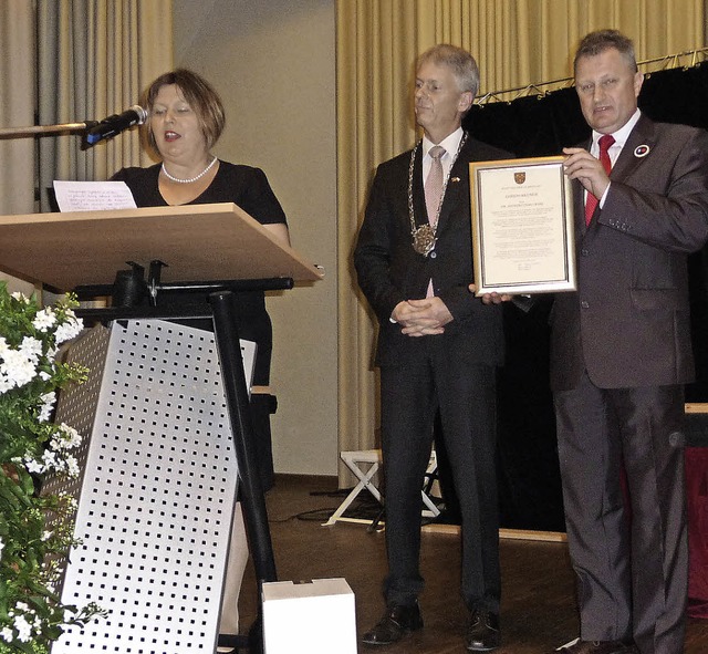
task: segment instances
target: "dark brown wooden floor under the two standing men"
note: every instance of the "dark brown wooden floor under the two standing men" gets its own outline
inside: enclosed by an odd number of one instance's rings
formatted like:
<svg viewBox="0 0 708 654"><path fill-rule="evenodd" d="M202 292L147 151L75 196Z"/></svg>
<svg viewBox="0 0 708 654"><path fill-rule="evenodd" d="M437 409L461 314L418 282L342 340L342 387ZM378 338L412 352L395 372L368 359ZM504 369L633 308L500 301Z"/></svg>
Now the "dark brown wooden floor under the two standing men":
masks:
<svg viewBox="0 0 708 654"><path fill-rule="evenodd" d="M305 581L343 577L354 591L357 635L381 617L381 582L386 571L385 534L363 525L322 527L320 509L335 509L341 496L335 480L279 477L267 505L279 580ZM573 575L562 542L502 539L502 647L498 654L544 654L577 635ZM467 614L459 594L459 538L424 532L420 595L425 629L389 647L358 646L358 652L447 654L465 652ZM241 589L241 630L257 614L251 565ZM708 652L708 620L689 620L685 654ZM293 654L306 651L293 650ZM333 652L332 654L336 654Z"/></svg>

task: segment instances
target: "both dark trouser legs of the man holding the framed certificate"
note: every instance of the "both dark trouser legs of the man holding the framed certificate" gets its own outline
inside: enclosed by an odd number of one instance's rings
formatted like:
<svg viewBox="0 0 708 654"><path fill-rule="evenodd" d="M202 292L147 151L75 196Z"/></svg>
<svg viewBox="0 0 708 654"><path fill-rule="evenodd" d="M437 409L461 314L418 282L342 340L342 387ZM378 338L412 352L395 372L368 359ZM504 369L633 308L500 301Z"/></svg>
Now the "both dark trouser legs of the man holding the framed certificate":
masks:
<svg viewBox="0 0 708 654"><path fill-rule="evenodd" d="M679 654L687 546L683 447L675 434L683 427L683 391L600 390L585 378L577 390L558 393L555 406L581 635L618 640L634 632L643 654Z"/></svg>

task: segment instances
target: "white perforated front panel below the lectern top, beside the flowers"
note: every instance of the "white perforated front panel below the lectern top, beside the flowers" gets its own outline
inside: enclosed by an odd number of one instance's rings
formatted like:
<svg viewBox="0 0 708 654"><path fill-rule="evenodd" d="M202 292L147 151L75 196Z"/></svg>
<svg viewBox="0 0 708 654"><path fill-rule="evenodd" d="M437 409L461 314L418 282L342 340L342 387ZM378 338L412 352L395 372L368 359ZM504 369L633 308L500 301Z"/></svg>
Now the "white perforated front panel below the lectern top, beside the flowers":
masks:
<svg viewBox="0 0 708 654"><path fill-rule="evenodd" d="M106 333L92 330L74 346L92 378L60 399L56 419L91 433L82 544L62 601L93 601L110 615L69 630L52 654L214 652L237 487L214 335L157 320ZM254 344L241 350L250 381Z"/></svg>

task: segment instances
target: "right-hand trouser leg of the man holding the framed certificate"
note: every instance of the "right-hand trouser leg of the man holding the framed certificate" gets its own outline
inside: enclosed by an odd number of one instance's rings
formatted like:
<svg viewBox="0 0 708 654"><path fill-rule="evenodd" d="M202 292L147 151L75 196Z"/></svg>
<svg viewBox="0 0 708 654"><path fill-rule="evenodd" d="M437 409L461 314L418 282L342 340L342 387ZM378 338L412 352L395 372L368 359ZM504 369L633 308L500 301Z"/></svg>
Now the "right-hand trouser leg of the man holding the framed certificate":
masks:
<svg viewBox="0 0 708 654"><path fill-rule="evenodd" d="M632 500L634 640L681 654L688 595L683 386L610 392Z"/></svg>

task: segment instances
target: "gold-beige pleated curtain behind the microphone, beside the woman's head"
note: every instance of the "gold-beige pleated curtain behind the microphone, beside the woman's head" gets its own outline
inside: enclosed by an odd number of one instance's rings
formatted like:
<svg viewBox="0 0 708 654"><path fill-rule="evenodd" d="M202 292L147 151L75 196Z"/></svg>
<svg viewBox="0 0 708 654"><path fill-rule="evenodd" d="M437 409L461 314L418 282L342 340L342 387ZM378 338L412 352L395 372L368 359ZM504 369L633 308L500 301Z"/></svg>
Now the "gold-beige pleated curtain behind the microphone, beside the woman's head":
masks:
<svg viewBox="0 0 708 654"><path fill-rule="evenodd" d="M37 0L37 11L40 124L121 113L171 69L171 0ZM77 136L41 139L42 209L53 179L106 179L147 163L135 129L87 150Z"/></svg>

